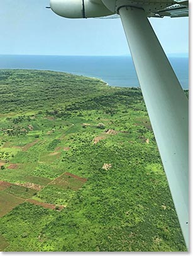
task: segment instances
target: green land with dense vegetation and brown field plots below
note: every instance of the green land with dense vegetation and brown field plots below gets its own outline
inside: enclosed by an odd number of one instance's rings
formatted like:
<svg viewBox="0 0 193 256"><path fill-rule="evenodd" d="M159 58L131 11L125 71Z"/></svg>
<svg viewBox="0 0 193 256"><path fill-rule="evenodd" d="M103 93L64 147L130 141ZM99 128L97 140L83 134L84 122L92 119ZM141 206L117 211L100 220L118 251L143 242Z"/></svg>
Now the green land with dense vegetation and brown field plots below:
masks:
<svg viewBox="0 0 193 256"><path fill-rule="evenodd" d="M0 89L1 250L186 250L140 89L37 70Z"/></svg>

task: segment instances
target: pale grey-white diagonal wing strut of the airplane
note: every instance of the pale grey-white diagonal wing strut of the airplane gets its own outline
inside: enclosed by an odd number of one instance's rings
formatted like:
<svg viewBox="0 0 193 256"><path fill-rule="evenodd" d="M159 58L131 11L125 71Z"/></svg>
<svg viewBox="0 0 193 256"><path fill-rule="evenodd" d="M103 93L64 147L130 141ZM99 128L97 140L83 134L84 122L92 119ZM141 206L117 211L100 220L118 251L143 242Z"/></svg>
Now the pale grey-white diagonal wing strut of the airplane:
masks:
<svg viewBox="0 0 193 256"><path fill-rule="evenodd" d="M129 6L118 11L188 248L188 101L145 11Z"/></svg>

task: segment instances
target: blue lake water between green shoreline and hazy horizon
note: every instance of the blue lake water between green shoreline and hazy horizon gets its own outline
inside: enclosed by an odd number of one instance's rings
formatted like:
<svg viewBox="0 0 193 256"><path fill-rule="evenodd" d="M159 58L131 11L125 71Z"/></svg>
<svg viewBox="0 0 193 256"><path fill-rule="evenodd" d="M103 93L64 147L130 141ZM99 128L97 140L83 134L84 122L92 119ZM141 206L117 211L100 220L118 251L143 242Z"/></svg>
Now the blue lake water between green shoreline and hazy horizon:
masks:
<svg viewBox="0 0 193 256"><path fill-rule="evenodd" d="M189 87L189 58L169 57L184 89ZM110 86L138 87L129 56L0 55L0 69L40 69L97 77Z"/></svg>

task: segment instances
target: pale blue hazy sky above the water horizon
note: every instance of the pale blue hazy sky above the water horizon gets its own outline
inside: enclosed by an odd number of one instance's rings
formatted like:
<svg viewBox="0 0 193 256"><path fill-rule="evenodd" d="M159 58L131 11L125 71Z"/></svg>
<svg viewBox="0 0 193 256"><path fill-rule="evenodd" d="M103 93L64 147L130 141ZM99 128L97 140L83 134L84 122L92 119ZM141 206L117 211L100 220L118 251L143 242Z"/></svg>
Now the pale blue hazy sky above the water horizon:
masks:
<svg viewBox="0 0 193 256"><path fill-rule="evenodd" d="M120 19L65 19L49 0L5 0L0 8L0 54L126 55ZM151 18L167 53L188 52L188 18Z"/></svg>

